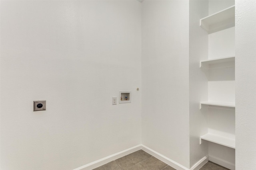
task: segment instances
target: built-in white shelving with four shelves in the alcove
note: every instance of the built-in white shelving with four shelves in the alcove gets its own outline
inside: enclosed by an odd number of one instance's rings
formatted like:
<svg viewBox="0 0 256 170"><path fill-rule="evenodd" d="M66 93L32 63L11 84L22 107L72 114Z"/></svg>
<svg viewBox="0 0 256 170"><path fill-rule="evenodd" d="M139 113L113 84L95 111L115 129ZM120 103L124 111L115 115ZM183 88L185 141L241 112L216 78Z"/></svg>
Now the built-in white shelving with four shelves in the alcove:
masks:
<svg viewBox="0 0 256 170"><path fill-rule="evenodd" d="M235 56L232 56L234 48L230 45L234 44L234 29L231 28L234 26L235 6L230 6L200 20L200 27L211 34L208 36L208 57L223 57L200 61L201 71L206 76L204 80L208 81L207 91L203 92L208 94L208 99L200 101L200 109L206 117L206 125L202 128L207 131L206 134L200 136L200 145L203 141L208 141L208 152L212 156L209 156L209 159L232 170L235 169L235 166L232 165L234 162L229 164L226 162L226 158L232 160L234 158L233 149L235 149L234 112L236 106L233 92L235 89ZM225 46L224 43L222 46L221 41L230 46ZM202 105L217 107L202 108ZM224 152L220 145L229 147L229 149L225 149L228 152Z"/></svg>

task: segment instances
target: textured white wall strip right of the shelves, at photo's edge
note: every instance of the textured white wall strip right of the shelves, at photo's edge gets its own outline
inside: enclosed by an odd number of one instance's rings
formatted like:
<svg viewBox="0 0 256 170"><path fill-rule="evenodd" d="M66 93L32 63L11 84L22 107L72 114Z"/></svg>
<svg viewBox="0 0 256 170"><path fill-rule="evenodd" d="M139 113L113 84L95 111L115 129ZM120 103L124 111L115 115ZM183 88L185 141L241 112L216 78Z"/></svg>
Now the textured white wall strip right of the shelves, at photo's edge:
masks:
<svg viewBox="0 0 256 170"><path fill-rule="evenodd" d="M236 169L256 169L256 1L236 0Z"/></svg>

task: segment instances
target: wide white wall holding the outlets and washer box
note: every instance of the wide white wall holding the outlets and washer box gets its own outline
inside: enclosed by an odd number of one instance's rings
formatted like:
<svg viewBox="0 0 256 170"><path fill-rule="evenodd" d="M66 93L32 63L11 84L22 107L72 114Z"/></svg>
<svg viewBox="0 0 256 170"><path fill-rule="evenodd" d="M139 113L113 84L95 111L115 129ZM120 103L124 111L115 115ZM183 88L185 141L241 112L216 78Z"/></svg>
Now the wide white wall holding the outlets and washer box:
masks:
<svg viewBox="0 0 256 170"><path fill-rule="evenodd" d="M141 144L140 2L1 1L0 11L2 170L70 170ZM119 90L132 102L112 105Z"/></svg>

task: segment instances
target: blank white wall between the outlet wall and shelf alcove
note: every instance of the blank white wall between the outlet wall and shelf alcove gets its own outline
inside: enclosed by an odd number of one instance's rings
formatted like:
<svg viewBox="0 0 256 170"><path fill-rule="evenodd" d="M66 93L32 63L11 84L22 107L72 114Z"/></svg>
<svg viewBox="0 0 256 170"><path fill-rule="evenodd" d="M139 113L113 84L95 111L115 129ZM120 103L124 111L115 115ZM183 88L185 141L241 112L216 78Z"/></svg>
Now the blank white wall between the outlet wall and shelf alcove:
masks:
<svg viewBox="0 0 256 170"><path fill-rule="evenodd" d="M142 144L189 168L189 1L143 1L142 30Z"/></svg>

